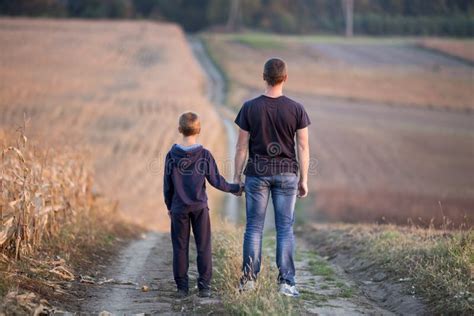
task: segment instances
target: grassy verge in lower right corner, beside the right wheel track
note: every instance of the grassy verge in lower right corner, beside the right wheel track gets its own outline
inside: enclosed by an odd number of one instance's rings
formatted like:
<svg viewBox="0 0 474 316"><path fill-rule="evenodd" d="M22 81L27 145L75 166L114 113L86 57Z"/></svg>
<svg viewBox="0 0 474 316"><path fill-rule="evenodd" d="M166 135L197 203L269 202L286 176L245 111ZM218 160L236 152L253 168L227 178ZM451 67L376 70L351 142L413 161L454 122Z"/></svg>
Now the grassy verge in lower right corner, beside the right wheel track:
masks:
<svg viewBox="0 0 474 316"><path fill-rule="evenodd" d="M307 235L324 255L350 254L411 285L435 313L474 311L472 229L341 224L315 225Z"/></svg>

